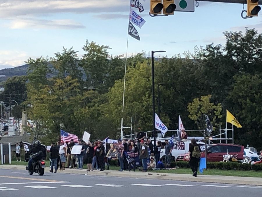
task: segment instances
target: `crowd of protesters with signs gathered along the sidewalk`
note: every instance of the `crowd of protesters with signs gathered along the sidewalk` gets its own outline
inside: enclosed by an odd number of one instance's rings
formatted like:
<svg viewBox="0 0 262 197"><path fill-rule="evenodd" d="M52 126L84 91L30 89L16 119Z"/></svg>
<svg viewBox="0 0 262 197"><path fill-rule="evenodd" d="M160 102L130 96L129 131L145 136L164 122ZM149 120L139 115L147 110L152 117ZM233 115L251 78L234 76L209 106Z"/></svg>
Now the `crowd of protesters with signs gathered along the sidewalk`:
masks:
<svg viewBox="0 0 262 197"><path fill-rule="evenodd" d="M142 172L147 170L170 168L170 157L172 146L166 140L166 145L162 147L160 141L157 142L155 148L150 139L146 139L146 134L140 132L135 140L121 140L118 143L110 144L107 150L103 141L96 140L91 143L84 142L79 139L78 143L73 140L64 144L63 141L52 143L49 153L50 172L65 170L66 168L83 169L83 163L87 164L87 171L105 170L105 163L109 169L109 161L111 159L118 160L120 166L119 171L136 170L137 165L142 164ZM71 154L75 145L82 145L80 154ZM160 158L161 149L165 148L166 157L165 164Z"/></svg>

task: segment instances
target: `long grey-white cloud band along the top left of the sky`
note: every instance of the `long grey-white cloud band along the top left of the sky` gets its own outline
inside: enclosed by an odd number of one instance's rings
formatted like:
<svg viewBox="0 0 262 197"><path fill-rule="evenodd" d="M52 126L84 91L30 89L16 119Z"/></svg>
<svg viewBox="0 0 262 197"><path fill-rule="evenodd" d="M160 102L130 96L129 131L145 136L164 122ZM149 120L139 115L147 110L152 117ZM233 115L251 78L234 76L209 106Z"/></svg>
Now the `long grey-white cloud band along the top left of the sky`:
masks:
<svg viewBox="0 0 262 197"><path fill-rule="evenodd" d="M0 18L127 11L130 0L0 0Z"/></svg>

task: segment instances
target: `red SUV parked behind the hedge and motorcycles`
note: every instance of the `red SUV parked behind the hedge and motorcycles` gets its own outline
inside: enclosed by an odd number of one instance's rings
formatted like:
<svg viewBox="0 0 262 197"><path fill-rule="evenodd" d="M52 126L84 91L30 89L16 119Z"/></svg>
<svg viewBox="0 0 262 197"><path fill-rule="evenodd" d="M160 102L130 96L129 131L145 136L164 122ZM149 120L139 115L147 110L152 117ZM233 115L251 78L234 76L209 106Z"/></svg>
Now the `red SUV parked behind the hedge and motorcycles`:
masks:
<svg viewBox="0 0 262 197"><path fill-rule="evenodd" d="M201 147L201 157L205 157L204 146ZM207 145L207 161L216 162L223 161L223 155L226 154L228 150L229 154L238 154L238 159L243 159L244 146L237 144L208 144ZM176 161L189 161L188 154L180 154Z"/></svg>

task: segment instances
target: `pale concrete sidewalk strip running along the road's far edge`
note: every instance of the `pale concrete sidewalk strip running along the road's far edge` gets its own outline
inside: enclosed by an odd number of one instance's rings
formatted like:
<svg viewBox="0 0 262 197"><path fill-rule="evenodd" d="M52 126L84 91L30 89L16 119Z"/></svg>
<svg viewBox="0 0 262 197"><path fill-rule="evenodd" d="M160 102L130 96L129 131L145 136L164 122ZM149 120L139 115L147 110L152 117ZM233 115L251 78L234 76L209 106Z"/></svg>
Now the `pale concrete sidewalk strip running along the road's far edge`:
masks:
<svg viewBox="0 0 262 197"><path fill-rule="evenodd" d="M0 169L7 170L25 170L25 166L21 165L0 165ZM49 171L49 167L45 168ZM161 171L153 172L119 172L116 170L105 170L103 172L94 170L93 172L86 172L86 170L77 169L65 169L63 171L58 170L59 173L66 174L82 174L82 175L95 175L95 176L110 176L110 177L129 177L129 178L141 178L141 179L159 179L159 180L174 180L174 181L193 181L193 182L206 182L206 183L220 183L220 184L241 184L241 185L256 185L262 186L262 178L254 177L230 177L230 176L210 176L210 175L198 175L198 177L192 177L192 175L185 174L169 174L161 173Z"/></svg>

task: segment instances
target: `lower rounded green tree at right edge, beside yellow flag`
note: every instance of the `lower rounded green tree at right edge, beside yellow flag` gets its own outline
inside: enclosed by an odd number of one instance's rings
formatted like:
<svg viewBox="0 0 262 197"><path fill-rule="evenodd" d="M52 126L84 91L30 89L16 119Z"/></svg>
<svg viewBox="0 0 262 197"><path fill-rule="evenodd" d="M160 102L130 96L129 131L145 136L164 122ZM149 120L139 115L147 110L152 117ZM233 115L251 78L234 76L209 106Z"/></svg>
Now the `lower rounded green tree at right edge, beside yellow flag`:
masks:
<svg viewBox="0 0 262 197"><path fill-rule="evenodd" d="M262 137L262 79L259 75L245 74L234 77L235 83L229 93L228 109L233 111L242 128L234 130L240 144L249 144L261 150Z"/></svg>

